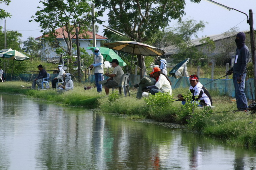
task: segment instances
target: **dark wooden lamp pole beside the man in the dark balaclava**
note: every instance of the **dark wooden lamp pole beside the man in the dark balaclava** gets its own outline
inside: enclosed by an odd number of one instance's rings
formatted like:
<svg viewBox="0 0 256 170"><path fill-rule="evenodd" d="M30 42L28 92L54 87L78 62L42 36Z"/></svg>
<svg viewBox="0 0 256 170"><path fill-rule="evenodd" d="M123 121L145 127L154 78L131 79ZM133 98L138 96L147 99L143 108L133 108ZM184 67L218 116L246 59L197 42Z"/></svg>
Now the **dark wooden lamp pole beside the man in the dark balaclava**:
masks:
<svg viewBox="0 0 256 170"><path fill-rule="evenodd" d="M254 73L254 99L256 98L256 56L255 56L255 38L253 30L253 12L252 9L249 10L249 25L250 25L250 38L251 38L251 51L252 51L252 63L253 63L253 73Z"/></svg>

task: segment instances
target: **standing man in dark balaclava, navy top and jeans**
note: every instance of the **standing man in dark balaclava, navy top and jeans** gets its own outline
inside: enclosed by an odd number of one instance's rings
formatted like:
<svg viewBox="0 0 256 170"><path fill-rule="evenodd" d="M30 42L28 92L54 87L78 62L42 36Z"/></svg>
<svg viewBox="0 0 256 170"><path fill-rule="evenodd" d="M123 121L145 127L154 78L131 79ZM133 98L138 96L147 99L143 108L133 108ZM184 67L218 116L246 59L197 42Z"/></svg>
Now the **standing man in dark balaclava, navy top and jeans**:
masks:
<svg viewBox="0 0 256 170"><path fill-rule="evenodd" d="M245 95L245 77L247 75L246 66L250 52L248 47L245 45L245 33L238 33L236 35L235 43L237 48L234 66L227 71L227 75L233 73L237 109L247 112L248 103Z"/></svg>

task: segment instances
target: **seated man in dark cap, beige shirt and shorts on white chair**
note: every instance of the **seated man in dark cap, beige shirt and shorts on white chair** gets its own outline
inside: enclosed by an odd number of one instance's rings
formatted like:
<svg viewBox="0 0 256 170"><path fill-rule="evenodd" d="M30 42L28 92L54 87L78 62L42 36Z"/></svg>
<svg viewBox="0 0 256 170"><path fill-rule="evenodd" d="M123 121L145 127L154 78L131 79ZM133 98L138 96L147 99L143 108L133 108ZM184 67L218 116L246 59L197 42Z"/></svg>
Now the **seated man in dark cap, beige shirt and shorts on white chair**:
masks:
<svg viewBox="0 0 256 170"><path fill-rule="evenodd" d="M104 84L106 95L108 95L110 88L113 88L113 87L119 85L119 83L121 81L121 77L124 74L124 71L119 66L119 62L117 59L113 59L110 63L112 65L112 67L114 67L113 73L112 74L105 73L105 76L107 76L109 78L106 80L103 80L103 81L99 81L99 84Z"/></svg>

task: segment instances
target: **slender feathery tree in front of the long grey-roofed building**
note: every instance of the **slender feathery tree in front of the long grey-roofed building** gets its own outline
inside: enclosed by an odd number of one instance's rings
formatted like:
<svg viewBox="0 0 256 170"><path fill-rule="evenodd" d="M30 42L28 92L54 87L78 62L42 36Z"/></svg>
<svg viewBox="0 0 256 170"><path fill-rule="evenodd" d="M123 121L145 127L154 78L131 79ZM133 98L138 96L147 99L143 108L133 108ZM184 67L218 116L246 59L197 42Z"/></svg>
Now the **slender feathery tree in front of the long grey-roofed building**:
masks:
<svg viewBox="0 0 256 170"><path fill-rule="evenodd" d="M184 21L181 21L177 24L177 26L174 28L174 33L177 33L182 36L182 39L184 40L181 44L179 44L179 47L181 49L187 48L190 53L190 64L192 64L192 49L191 47L194 46L194 44L191 42L192 36L195 38L198 38L197 32L203 31L205 24L207 22L204 22L200 20L197 22L194 19L186 19Z"/></svg>

